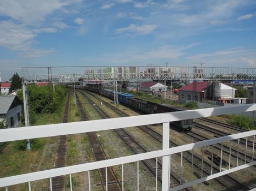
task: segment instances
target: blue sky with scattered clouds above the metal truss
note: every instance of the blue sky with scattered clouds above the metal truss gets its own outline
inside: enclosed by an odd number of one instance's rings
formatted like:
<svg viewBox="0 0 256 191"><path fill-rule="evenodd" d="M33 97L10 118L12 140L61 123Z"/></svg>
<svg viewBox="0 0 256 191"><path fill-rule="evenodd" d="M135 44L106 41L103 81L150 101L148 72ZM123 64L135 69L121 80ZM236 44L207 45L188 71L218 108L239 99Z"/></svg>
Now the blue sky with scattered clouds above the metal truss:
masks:
<svg viewBox="0 0 256 191"><path fill-rule="evenodd" d="M0 0L0 71L62 65L256 68L254 0Z"/></svg>

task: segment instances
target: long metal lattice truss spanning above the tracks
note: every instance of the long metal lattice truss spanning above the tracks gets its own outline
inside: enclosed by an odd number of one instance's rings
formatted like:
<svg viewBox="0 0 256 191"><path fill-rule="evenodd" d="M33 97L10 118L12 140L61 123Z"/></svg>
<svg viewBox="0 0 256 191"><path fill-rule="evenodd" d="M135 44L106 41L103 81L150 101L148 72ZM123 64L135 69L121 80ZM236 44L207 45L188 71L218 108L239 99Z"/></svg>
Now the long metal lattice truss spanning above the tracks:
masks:
<svg viewBox="0 0 256 191"><path fill-rule="evenodd" d="M159 66L66 66L21 68L24 83L77 82L84 80L256 80L256 68L159 67Z"/></svg>

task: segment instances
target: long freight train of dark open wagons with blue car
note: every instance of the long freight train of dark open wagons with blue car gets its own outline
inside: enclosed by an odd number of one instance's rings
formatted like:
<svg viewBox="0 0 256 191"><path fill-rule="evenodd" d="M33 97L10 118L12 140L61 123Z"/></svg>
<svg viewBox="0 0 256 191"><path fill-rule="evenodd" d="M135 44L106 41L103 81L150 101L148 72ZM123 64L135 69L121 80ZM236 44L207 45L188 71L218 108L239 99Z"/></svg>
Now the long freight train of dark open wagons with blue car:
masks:
<svg viewBox="0 0 256 191"><path fill-rule="evenodd" d="M73 86L70 86L73 88ZM104 89L99 86L76 86L77 89L85 89L90 92L101 94L107 98L114 99L114 92L112 89ZM129 106L132 109L143 112L144 114L158 114L163 112L173 112L173 111L183 111L183 108L177 108L168 104L157 104L149 102L147 100L134 98L133 94L118 92L118 102ZM193 120L181 120L170 123L172 126L181 128L181 130L191 130L193 125Z"/></svg>

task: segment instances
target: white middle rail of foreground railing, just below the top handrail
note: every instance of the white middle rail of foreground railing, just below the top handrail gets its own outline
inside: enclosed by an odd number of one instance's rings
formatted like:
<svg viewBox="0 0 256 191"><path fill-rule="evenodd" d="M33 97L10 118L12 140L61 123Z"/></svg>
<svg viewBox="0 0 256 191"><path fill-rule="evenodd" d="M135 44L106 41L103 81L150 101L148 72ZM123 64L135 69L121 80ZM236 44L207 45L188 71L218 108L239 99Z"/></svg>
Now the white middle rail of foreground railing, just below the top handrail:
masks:
<svg viewBox="0 0 256 191"><path fill-rule="evenodd" d="M137 162L140 160L145 160L145 159L150 159L150 158L168 156L170 154L189 151L189 150L192 150L195 148L200 148L200 147L204 147L204 146L208 146L208 145L214 145L214 144L218 144L220 142L230 141L230 140L234 140L234 139L240 139L240 138L244 138L247 136L253 136L253 135L256 135L256 130L251 130L249 132L243 132L243 133L223 136L220 138L215 138L215 139L210 139L210 140L204 140L204 141L195 142L192 144L181 145L181 146L169 148L167 150L158 150L158 151L152 151L152 152L147 152L147 153L134 154L131 156L101 160L101 161L97 161L97 162L84 163L84 164L78 164L78 165L72 165L72 166L65 166L65 167L58 168L58 169L50 169L50 170L44 170L44 171L38 171L38 172L31 172L28 174L0 178L0 187L10 186L10 185L19 184L19 183L25 183L25 182L31 182L31 181L36 181L36 180L42 180L45 178L51 178L51 177L55 177L55 176L69 175L69 174L74 174L77 172L95 170L95 169L105 168L105 167L109 167L109 166L127 164L127 163ZM252 164L250 163L250 164L255 165L254 163L255 162L253 162ZM247 166L251 166L250 164L247 164ZM223 172L223 173L225 174L225 172ZM213 176L213 178L214 177L215 176Z"/></svg>

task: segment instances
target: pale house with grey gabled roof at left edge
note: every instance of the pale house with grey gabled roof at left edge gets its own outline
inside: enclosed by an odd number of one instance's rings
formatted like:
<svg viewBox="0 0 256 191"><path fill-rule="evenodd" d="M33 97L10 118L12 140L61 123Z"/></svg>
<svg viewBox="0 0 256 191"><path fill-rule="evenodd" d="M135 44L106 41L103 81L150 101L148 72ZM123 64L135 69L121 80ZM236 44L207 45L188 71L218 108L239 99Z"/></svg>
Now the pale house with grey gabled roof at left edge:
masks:
<svg viewBox="0 0 256 191"><path fill-rule="evenodd" d="M21 112L22 101L17 96L0 96L0 121L8 128L19 127Z"/></svg>

